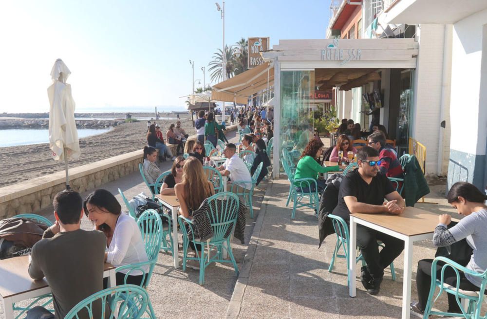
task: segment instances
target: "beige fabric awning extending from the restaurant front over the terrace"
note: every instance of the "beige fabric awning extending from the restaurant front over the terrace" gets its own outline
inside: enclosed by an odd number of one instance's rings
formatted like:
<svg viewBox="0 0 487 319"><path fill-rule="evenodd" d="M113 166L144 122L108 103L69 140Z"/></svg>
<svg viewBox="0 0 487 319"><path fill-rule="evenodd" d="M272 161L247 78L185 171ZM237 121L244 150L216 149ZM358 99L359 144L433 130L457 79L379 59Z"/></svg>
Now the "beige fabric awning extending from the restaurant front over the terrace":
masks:
<svg viewBox="0 0 487 319"><path fill-rule="evenodd" d="M211 99L247 104L248 97L274 85L274 67L266 62L212 86Z"/></svg>

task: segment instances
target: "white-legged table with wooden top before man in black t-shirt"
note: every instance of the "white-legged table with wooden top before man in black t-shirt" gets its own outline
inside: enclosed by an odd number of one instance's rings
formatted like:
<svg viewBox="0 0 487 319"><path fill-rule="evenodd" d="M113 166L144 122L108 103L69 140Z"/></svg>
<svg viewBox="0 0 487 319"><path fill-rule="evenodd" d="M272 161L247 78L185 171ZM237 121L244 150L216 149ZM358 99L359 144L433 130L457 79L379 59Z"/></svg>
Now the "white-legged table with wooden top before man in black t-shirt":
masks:
<svg viewBox="0 0 487 319"><path fill-rule="evenodd" d="M416 241L431 239L434 228L438 225L438 215L406 207L400 215L392 214L350 214L350 256L356 256L357 224L373 228L384 234L404 241L404 275L402 284L402 319L409 319L411 303L412 244ZM356 260L349 258L348 274L350 278L349 295L356 296ZM383 283L384 284L384 283Z"/></svg>

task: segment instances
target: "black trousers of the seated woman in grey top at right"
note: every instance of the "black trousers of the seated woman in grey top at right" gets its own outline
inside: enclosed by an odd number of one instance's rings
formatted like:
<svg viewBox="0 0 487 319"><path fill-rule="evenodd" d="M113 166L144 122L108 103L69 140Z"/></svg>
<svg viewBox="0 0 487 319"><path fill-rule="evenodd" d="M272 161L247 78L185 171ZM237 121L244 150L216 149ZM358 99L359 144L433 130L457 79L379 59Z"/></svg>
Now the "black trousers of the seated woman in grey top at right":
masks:
<svg viewBox="0 0 487 319"><path fill-rule="evenodd" d="M433 263L432 259L422 259L418 262L418 271L416 272L416 286L418 288L418 298L419 298L419 308L424 310L426 308L426 303L428 302L428 296L430 295L430 286L431 286L431 264ZM441 267L445 263L437 263L436 264L436 278L441 278ZM458 272L460 275L460 285L459 288L463 290L469 291L480 291L480 288L471 283L467 278L465 278L465 274L461 271ZM455 271L451 267L447 267L445 269L445 274L443 278L444 282L456 287L457 284L457 277ZM448 295L448 310L447 312L454 312L454 313L461 313L460 306L456 302L455 296L451 294ZM485 295L487 295L487 290L485 291Z"/></svg>

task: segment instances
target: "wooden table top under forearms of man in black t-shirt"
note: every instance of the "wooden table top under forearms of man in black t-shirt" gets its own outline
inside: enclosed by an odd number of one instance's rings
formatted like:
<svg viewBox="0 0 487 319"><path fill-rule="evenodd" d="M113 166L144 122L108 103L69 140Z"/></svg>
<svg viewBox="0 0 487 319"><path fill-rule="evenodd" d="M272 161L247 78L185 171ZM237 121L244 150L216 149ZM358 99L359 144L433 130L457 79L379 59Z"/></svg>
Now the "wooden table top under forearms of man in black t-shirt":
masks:
<svg viewBox="0 0 487 319"><path fill-rule="evenodd" d="M401 215L355 213L352 216L406 236L433 233L438 225L438 214L414 207L406 207Z"/></svg>

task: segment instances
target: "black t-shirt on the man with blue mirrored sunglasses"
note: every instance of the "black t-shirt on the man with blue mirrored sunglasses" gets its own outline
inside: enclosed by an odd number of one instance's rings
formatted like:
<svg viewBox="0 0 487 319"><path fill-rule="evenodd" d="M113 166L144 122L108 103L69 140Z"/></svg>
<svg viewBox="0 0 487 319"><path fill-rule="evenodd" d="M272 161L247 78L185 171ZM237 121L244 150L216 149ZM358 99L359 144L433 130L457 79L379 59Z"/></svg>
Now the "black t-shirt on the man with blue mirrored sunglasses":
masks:
<svg viewBox="0 0 487 319"><path fill-rule="evenodd" d="M343 176L340 184L340 191L338 192L338 205L333 210L333 214L340 216L344 220L350 220L350 210L345 204L343 197L354 196L360 203L371 205L382 205L387 194L395 190L391 181L386 175L377 173L377 176L372 178L372 182L367 184L360 174L358 169L354 169L347 175Z"/></svg>

